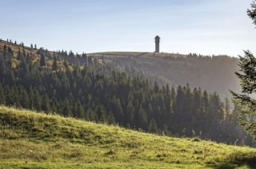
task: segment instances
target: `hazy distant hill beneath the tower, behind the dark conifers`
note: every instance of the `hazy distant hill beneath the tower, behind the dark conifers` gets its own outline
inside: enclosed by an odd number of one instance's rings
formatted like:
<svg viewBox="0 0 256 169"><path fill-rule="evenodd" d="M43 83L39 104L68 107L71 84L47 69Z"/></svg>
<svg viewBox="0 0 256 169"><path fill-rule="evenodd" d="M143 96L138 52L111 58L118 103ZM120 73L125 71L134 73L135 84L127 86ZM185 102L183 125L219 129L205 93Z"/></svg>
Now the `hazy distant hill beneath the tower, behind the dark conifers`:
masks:
<svg viewBox="0 0 256 169"><path fill-rule="evenodd" d="M109 52L90 53L100 60L121 66L131 76L140 76L157 81L159 85L190 84L192 88L201 87L209 92L218 92L230 98L229 89L239 92L238 58L227 56L202 56L197 54L174 53L132 53Z"/></svg>

